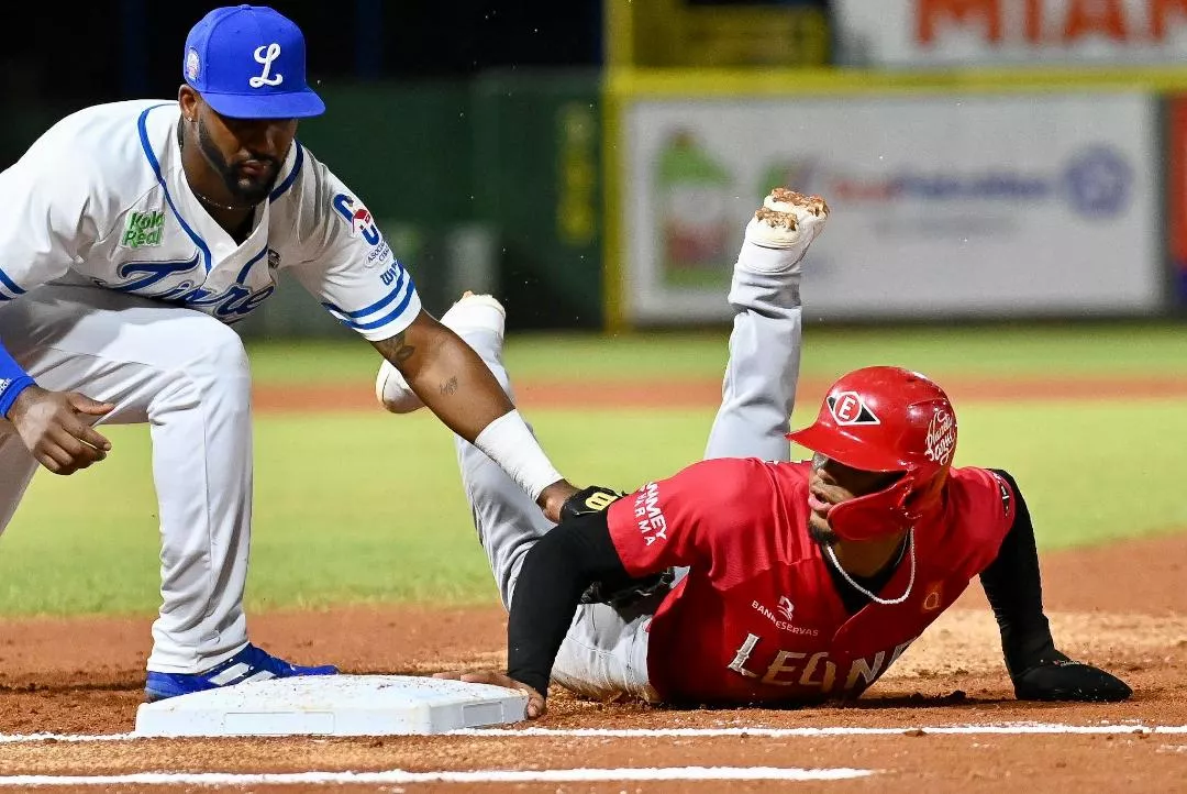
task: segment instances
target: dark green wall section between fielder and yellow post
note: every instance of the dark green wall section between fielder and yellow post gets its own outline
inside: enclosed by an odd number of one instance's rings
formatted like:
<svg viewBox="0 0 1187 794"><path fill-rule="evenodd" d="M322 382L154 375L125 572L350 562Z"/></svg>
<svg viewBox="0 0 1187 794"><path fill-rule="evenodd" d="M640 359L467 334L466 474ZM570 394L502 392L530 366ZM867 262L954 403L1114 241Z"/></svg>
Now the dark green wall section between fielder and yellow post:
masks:
<svg viewBox="0 0 1187 794"><path fill-rule="evenodd" d="M438 316L464 288L513 307L510 328L602 318L599 76L489 71L470 81L319 87L300 138L366 201ZM343 335L294 282L248 336Z"/></svg>

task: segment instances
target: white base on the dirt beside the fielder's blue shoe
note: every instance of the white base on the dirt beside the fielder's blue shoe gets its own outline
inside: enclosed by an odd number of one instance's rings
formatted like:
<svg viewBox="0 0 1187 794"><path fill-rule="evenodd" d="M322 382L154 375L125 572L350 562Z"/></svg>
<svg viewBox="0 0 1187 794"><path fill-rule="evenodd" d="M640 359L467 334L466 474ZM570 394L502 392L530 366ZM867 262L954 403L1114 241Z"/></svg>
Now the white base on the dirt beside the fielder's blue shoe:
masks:
<svg viewBox="0 0 1187 794"><path fill-rule="evenodd" d="M527 695L419 675L307 675L141 704L137 736L391 736L525 719Z"/></svg>

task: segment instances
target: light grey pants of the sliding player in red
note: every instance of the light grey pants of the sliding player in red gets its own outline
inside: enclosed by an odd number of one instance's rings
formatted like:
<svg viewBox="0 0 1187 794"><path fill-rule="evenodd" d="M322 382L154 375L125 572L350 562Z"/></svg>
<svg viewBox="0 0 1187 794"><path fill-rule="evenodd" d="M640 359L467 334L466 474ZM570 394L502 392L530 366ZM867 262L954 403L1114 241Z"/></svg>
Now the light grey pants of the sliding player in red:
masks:
<svg viewBox="0 0 1187 794"><path fill-rule="evenodd" d="M744 243L740 256L755 255L751 246ZM789 459L786 433L800 367L799 282L798 266L780 275L756 275L735 268L729 293L736 312L730 357L722 385L722 405L705 449L706 459ZM472 330L464 330L462 336L514 399L499 339ZM507 606L525 555L553 525L481 450L459 437L453 440L475 527ZM656 476L671 474L656 472ZM685 572L679 571L678 576ZM653 595L623 610L609 604L578 606L553 665L552 680L596 699L616 694L658 699L649 684L647 656L662 654L664 649L648 648L647 627L662 599L664 593Z"/></svg>

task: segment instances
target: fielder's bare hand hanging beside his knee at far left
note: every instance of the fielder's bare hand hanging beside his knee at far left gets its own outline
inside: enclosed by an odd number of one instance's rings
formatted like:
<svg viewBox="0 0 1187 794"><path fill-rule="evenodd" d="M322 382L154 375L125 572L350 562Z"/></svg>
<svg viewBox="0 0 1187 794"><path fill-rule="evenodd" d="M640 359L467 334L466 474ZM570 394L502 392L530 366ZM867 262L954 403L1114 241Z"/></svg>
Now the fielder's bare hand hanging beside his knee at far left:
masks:
<svg viewBox="0 0 1187 794"><path fill-rule="evenodd" d="M38 463L56 475L72 475L107 457L112 443L88 418L104 417L114 408L77 392L30 386L12 404L8 421Z"/></svg>

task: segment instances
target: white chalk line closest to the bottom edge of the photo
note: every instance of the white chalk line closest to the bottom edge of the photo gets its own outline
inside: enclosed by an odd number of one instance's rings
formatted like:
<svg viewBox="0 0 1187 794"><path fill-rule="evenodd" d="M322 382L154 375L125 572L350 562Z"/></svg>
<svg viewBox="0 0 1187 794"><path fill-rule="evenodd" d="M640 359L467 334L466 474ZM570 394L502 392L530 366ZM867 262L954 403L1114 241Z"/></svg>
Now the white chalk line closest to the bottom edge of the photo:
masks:
<svg viewBox="0 0 1187 794"><path fill-rule="evenodd" d="M400 783L571 783L675 780L852 780L870 769L799 767L661 767L621 769L476 769L472 771L129 773L126 775L7 775L0 787L34 786L315 786Z"/></svg>

